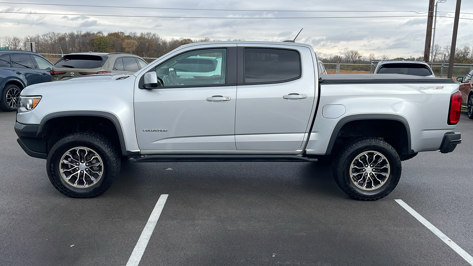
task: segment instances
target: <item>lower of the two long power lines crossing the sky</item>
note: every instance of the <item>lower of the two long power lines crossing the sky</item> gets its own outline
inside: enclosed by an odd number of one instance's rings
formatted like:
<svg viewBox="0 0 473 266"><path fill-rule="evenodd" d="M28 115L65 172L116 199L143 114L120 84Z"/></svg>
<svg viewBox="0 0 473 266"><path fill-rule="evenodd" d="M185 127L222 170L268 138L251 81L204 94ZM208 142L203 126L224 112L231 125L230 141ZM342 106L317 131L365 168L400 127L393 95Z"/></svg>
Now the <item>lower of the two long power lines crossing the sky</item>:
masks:
<svg viewBox="0 0 473 266"><path fill-rule="evenodd" d="M91 16L91 17L128 17L128 18L235 18L235 19L299 19L299 18L412 18L412 17L427 17L420 16L356 16L356 17L283 17L283 18L269 18L269 17L170 17L170 16L133 16L133 15L98 15L98 14L66 14L66 13L32 13L32 12L9 12L0 11L0 13L10 14L29 14L29 15L66 15L66 16ZM449 17L445 17L449 18Z"/></svg>

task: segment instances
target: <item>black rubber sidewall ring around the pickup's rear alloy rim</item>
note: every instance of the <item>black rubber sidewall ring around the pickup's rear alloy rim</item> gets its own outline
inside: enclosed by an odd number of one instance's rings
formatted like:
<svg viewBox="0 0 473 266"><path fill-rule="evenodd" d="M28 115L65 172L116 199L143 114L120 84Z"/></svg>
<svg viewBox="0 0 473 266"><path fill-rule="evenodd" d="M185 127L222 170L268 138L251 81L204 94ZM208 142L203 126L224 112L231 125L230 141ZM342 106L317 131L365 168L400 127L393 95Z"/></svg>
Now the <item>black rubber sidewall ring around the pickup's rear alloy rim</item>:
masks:
<svg viewBox="0 0 473 266"><path fill-rule="evenodd" d="M383 154L388 160L390 166L390 173L386 183L383 184L383 186L374 190L360 189L351 181L350 178L351 162L355 159L356 156L365 151L377 151ZM385 147L385 145L378 143L367 143L359 145L355 149L348 151L348 156L345 157L345 160L343 160L341 165L339 165L338 167L342 167L342 175L341 177L338 177L342 180L336 180L337 178L335 178L335 180L338 181L337 184L342 187L342 190L349 190L347 194L352 195L357 199L363 200L375 200L391 193L397 186L397 183L399 183L402 171L401 160L399 159L397 153L394 151L394 148L390 146Z"/></svg>

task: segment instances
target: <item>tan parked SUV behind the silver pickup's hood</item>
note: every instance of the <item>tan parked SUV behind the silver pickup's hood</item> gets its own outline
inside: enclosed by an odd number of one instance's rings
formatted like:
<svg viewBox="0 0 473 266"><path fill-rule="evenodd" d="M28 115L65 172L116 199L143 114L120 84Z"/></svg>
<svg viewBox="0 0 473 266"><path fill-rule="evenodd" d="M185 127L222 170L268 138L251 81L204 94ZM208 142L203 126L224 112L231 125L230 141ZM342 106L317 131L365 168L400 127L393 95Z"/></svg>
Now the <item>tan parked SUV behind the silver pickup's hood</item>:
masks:
<svg viewBox="0 0 473 266"><path fill-rule="evenodd" d="M140 56L131 53L70 53L54 64L51 78L56 81L91 74L131 75L146 65Z"/></svg>

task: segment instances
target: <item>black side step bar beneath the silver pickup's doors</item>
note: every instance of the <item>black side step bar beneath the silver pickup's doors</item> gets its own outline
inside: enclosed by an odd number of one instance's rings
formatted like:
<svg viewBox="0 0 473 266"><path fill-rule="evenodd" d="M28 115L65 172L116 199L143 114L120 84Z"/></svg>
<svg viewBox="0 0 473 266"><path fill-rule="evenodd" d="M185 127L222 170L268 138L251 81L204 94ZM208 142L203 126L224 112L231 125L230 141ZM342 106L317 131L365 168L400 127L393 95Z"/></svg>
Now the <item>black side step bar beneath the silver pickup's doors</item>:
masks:
<svg viewBox="0 0 473 266"><path fill-rule="evenodd" d="M148 155L134 162L316 162L297 155Z"/></svg>

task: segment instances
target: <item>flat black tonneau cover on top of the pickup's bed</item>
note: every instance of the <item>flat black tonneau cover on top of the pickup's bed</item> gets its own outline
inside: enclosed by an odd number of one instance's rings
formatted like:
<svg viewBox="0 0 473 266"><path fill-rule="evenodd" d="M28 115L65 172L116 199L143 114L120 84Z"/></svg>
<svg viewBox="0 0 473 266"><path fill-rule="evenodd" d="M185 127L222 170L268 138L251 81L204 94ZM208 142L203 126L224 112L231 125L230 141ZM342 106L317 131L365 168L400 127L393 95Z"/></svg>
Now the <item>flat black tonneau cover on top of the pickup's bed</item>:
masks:
<svg viewBox="0 0 473 266"><path fill-rule="evenodd" d="M356 83L455 83L452 79L421 77L404 74L322 74L319 82L324 84Z"/></svg>

